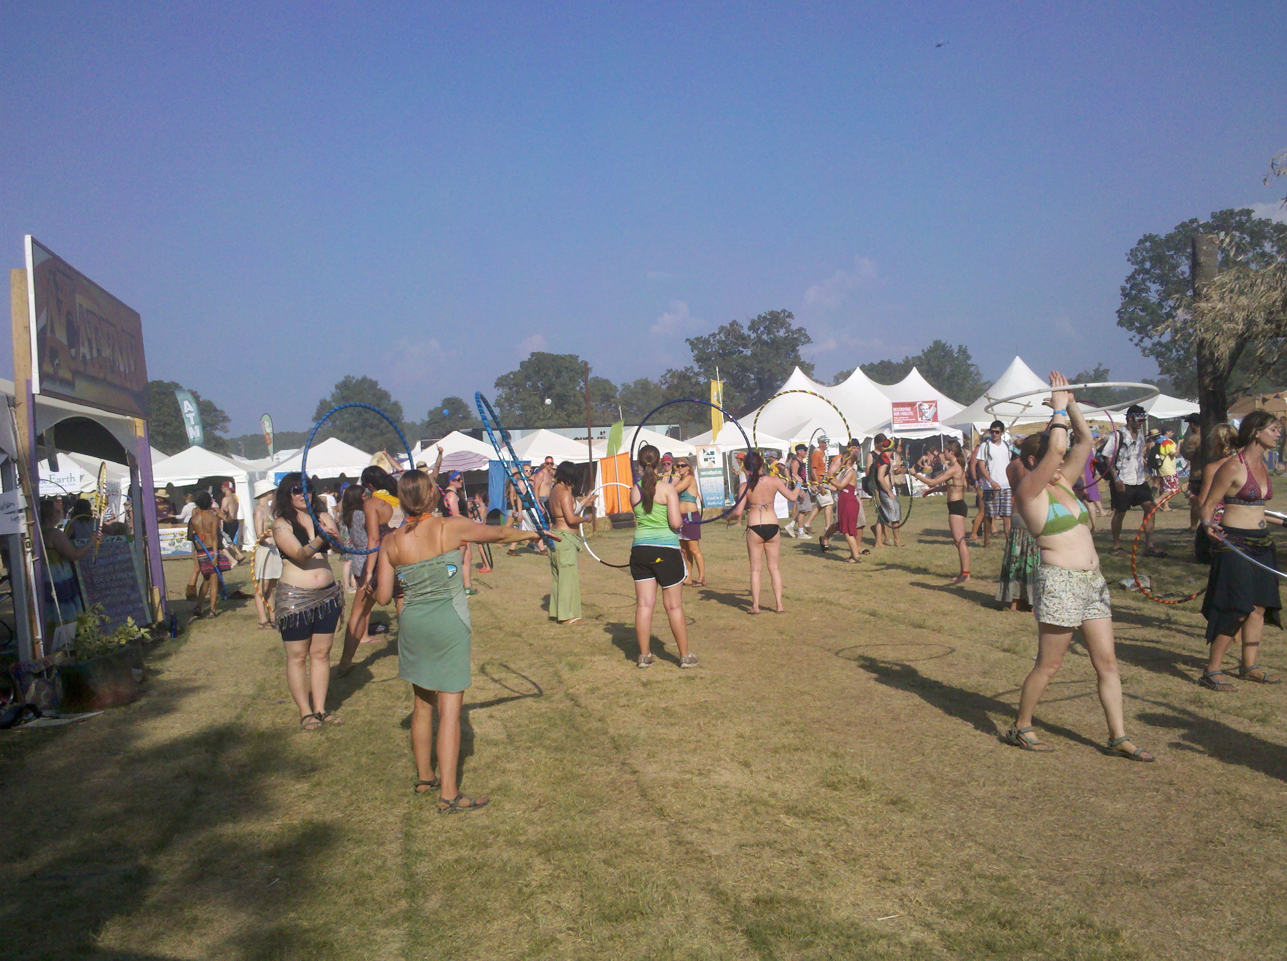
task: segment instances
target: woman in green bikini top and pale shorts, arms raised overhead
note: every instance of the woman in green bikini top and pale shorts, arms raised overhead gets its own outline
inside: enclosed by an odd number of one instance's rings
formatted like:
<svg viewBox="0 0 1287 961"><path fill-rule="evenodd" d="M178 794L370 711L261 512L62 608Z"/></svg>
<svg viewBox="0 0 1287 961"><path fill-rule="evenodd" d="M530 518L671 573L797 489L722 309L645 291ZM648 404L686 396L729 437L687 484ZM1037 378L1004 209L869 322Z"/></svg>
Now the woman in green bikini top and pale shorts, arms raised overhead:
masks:
<svg viewBox="0 0 1287 961"><path fill-rule="evenodd" d="M1053 390L1046 403L1054 408L1054 416L1046 431L1026 437L1019 448L1028 473L1014 491L1014 506L1028 530L1036 531L1041 548L1032 602L1037 620L1037 663L1023 682L1019 717L1005 732L1005 741L1026 751L1050 750L1032 732L1032 713L1063 663L1073 629L1080 627L1099 678L1099 704L1108 720L1108 750L1131 760L1153 760L1152 754L1136 747L1126 736L1108 585L1099 571L1099 554L1090 536L1090 515L1068 486L1068 481L1081 475L1090 457L1090 426L1072 403L1072 394L1064 390L1067 386L1063 374L1050 374ZM1071 446L1069 430L1076 431Z"/></svg>

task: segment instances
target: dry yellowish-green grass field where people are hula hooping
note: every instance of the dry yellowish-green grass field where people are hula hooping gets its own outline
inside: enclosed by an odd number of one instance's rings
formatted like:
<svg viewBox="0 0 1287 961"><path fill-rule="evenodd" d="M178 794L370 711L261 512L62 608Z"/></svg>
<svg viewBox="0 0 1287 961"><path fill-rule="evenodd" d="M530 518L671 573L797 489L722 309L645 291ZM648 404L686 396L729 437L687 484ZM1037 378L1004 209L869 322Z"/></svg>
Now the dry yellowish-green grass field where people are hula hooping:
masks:
<svg viewBox="0 0 1287 961"><path fill-rule="evenodd" d="M1196 576L1185 521L1163 516L1161 589ZM686 672L660 609L659 663L634 668L625 572L583 554L587 619L560 628L547 562L497 552L471 602L476 814L412 794L395 643L333 683L342 727L302 735L281 643L234 603L156 648L138 704L0 732L0 955L1287 955L1284 687L1199 690L1197 603L1115 585L1127 729L1157 763L1103 754L1085 656L1039 710L1055 753L1008 747L1036 645L992 601L1003 544L947 588L942 500L903 536L858 566L786 542L788 612L749 618L741 531L708 525ZM628 531L597 549L624 558ZM187 563L167 576L181 594ZM1272 628L1261 663L1287 668Z"/></svg>

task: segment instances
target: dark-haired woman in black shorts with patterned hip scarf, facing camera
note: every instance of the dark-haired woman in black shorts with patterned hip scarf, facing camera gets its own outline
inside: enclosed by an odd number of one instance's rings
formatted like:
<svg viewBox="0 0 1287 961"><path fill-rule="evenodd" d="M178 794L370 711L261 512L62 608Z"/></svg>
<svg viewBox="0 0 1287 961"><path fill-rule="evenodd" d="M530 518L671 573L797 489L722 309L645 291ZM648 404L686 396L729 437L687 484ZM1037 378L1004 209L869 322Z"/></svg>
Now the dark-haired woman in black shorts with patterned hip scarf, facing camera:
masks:
<svg viewBox="0 0 1287 961"><path fill-rule="evenodd" d="M322 530L338 538L340 530L320 500L313 509ZM286 645L286 684L300 709L300 727L317 731L322 724L340 723L326 709L326 692L331 639L344 614L344 588L331 572L327 540L313 526L297 472L286 475L278 485L273 516L273 539L282 553L274 612Z"/></svg>

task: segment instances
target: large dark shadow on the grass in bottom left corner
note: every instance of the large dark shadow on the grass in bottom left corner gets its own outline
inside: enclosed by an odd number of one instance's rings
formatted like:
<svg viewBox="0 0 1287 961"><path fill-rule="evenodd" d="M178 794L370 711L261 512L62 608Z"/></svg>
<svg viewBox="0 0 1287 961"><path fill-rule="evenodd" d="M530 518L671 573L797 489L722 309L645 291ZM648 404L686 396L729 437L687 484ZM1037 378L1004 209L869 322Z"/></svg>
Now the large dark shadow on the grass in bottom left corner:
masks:
<svg viewBox="0 0 1287 961"><path fill-rule="evenodd" d="M274 782L313 774L291 741L300 735L221 720L166 738L165 718L194 692L166 686L131 708L0 742L9 773L0 791L4 957L163 957L106 947L115 924L158 940L184 926L187 947L206 956L328 948L322 934L282 919L310 897L332 828L305 816L273 826L260 844L242 836L278 809Z"/></svg>

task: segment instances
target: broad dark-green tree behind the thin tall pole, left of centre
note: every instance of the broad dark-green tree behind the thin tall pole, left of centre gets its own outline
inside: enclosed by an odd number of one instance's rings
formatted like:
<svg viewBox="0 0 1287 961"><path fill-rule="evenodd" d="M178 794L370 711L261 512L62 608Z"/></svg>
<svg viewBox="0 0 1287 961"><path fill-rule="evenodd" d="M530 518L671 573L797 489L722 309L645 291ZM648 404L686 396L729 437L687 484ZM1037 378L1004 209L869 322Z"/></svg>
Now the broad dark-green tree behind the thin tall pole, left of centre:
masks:
<svg viewBox="0 0 1287 961"><path fill-rule="evenodd" d="M575 354L533 351L516 371L495 378L495 412L506 427L586 425L586 363ZM616 385L591 377L589 408L591 419L615 421Z"/></svg>

